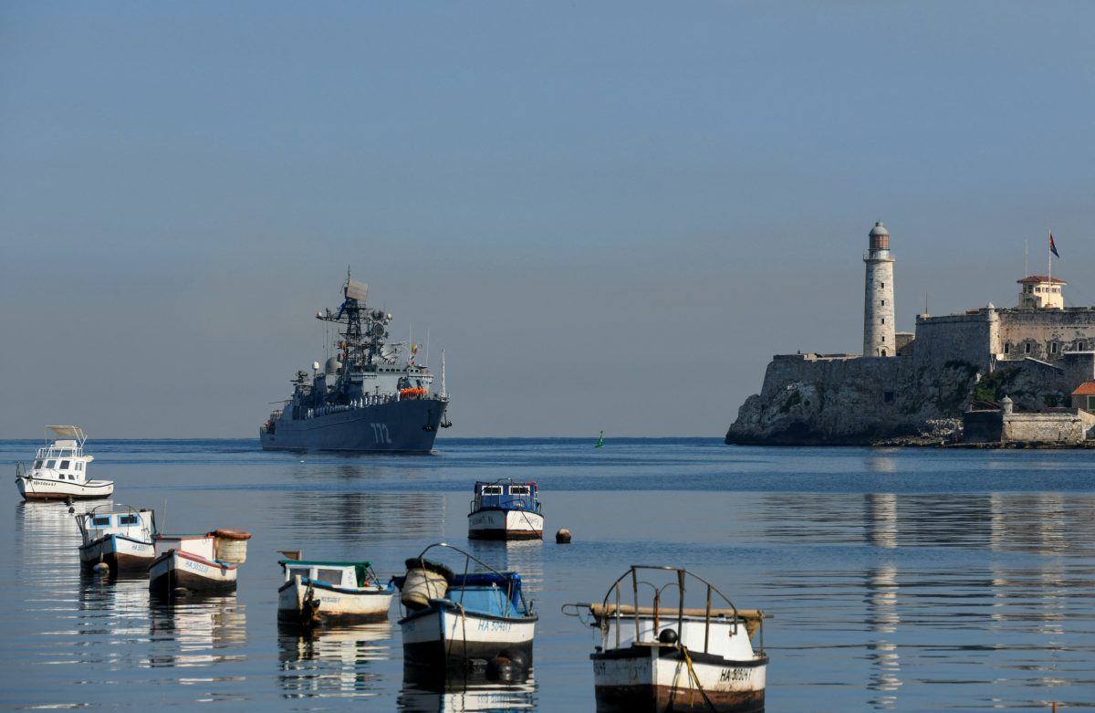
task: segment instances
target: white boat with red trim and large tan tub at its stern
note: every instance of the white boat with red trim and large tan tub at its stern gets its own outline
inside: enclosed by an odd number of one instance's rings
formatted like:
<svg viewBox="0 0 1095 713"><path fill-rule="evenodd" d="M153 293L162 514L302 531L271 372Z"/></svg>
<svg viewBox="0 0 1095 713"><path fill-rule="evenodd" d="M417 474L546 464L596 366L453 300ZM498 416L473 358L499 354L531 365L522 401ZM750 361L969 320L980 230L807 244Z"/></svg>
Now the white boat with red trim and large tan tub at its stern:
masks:
<svg viewBox="0 0 1095 713"><path fill-rule="evenodd" d="M155 559L148 565L148 587L159 595L180 589L194 593L235 589L238 570L246 561L243 530L214 530L205 534L160 534Z"/></svg>

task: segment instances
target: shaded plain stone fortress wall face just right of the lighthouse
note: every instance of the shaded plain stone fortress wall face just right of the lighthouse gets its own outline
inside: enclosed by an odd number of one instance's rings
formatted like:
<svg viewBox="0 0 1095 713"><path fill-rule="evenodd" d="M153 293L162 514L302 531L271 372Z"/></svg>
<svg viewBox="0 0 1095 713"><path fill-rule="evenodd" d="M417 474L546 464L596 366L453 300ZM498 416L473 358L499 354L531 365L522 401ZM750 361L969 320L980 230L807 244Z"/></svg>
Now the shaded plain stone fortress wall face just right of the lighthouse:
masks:
<svg viewBox="0 0 1095 713"><path fill-rule="evenodd" d="M917 318L913 359L917 367L941 369L948 361L967 361L989 371L990 348L996 329L991 311Z"/></svg>

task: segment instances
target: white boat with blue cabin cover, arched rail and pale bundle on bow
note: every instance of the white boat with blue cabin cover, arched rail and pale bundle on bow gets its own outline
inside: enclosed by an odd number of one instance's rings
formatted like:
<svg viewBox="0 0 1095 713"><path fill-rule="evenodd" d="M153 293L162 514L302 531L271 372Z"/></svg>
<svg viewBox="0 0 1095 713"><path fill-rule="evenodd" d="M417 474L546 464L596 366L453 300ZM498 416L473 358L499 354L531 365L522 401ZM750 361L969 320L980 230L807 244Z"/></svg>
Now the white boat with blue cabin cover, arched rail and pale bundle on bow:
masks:
<svg viewBox="0 0 1095 713"><path fill-rule="evenodd" d="M426 559L445 551L463 556L463 573ZM521 590L521 575L498 572L475 556L443 542L406 561L395 577L405 616L404 666L466 668L504 658L507 665L532 664L538 617ZM472 572L471 567L477 567Z"/></svg>

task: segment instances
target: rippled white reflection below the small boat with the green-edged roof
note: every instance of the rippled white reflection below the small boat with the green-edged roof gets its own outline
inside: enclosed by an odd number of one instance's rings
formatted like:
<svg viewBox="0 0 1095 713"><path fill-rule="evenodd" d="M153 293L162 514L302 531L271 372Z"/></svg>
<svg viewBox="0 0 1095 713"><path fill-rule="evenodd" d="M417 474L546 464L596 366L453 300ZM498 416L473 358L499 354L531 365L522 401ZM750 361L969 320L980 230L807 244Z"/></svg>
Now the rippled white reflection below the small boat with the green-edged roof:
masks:
<svg viewBox="0 0 1095 713"><path fill-rule="evenodd" d="M278 685L284 698L377 695L378 664L392 657L392 624L308 630L278 626Z"/></svg>

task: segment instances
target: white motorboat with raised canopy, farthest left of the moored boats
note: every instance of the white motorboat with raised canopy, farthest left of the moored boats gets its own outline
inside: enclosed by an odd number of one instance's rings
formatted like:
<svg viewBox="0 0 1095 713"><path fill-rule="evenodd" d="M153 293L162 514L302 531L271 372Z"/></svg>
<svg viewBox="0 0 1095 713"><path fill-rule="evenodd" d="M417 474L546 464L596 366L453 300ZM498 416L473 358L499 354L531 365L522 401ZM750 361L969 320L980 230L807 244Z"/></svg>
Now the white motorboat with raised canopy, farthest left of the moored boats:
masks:
<svg viewBox="0 0 1095 713"><path fill-rule="evenodd" d="M88 480L88 464L95 459L83 452L88 440L79 426L46 426L55 439L46 436L34 463L27 469L15 463L15 485L25 501L92 499L110 497L114 481Z"/></svg>

